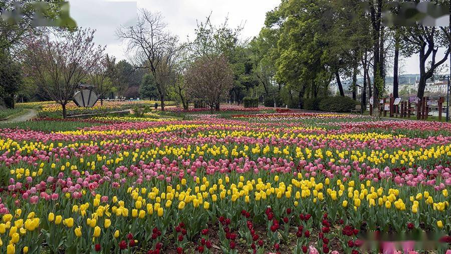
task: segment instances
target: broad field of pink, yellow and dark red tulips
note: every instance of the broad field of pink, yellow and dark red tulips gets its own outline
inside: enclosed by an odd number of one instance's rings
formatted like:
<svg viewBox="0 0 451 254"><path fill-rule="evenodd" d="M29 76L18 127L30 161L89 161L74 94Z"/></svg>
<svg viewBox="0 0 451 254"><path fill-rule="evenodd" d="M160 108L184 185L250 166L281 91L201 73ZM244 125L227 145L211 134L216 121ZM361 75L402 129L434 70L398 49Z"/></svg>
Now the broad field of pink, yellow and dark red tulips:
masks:
<svg viewBox="0 0 451 254"><path fill-rule="evenodd" d="M450 123L229 111L1 128L0 253L451 249Z"/></svg>

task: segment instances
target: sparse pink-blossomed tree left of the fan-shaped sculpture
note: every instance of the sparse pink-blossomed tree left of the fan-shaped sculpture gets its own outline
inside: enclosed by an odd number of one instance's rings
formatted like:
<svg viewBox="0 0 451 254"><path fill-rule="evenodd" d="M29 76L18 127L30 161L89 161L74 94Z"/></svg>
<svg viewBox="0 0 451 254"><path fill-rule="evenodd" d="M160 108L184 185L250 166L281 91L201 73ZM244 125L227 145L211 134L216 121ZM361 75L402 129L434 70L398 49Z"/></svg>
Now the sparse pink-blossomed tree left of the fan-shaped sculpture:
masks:
<svg viewBox="0 0 451 254"><path fill-rule="evenodd" d="M94 31L78 29L60 31L52 37L33 37L27 42L25 69L44 95L61 105L63 118L75 90L102 58L105 47L96 47L93 39Z"/></svg>

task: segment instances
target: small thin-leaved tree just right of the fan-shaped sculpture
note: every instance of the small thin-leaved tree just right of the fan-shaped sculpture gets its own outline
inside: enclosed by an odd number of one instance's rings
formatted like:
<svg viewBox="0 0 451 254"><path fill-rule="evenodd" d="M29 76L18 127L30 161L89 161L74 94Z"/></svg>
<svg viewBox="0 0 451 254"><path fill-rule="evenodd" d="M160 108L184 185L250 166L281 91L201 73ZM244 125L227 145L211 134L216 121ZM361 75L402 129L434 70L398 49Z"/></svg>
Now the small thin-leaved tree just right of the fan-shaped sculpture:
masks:
<svg viewBox="0 0 451 254"><path fill-rule="evenodd" d="M89 75L91 85L94 86L95 92L100 97L100 105L103 105L103 99L114 86L115 66L116 58L110 58L107 54L100 59L97 68Z"/></svg>

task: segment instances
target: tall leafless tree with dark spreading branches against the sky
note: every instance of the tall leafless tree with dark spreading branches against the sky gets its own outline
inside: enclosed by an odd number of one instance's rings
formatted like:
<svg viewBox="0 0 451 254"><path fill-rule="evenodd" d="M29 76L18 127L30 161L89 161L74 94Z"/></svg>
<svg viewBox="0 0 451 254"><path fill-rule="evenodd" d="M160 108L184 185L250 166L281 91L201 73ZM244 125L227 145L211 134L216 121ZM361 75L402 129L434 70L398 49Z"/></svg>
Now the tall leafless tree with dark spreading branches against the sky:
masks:
<svg viewBox="0 0 451 254"><path fill-rule="evenodd" d="M166 32L161 13L140 10L136 26L120 27L116 36L125 42L127 52L136 57L139 66L150 70L160 95L161 110L168 85L175 82L173 70L176 64L178 39Z"/></svg>

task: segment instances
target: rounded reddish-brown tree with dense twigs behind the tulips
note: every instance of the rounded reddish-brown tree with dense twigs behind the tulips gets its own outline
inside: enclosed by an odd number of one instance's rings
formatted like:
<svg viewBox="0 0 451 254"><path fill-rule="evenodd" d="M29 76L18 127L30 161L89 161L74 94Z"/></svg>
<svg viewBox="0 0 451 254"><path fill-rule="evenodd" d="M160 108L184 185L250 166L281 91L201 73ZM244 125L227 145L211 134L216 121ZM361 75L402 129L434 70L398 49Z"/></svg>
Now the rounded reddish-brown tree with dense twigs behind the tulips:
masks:
<svg viewBox="0 0 451 254"><path fill-rule="evenodd" d="M219 103L233 86L233 70L224 56L199 58L185 73L188 93L219 110Z"/></svg>

